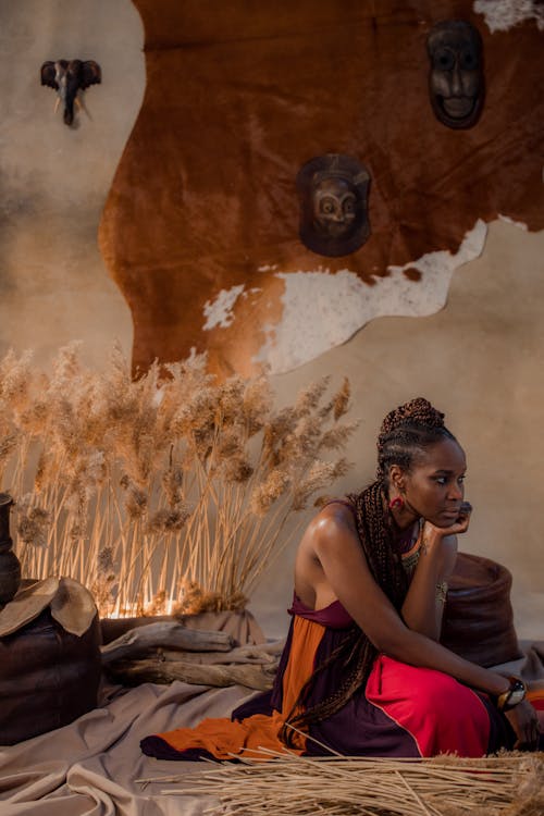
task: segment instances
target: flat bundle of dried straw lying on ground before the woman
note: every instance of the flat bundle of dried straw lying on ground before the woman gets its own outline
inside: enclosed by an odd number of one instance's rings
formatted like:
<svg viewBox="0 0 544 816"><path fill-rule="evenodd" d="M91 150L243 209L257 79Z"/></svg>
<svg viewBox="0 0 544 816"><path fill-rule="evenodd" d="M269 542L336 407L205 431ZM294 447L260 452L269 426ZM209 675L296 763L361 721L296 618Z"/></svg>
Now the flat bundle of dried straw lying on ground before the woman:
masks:
<svg viewBox="0 0 544 816"><path fill-rule="evenodd" d="M260 759L138 780L178 783L163 794L207 794L207 813L233 816L542 816L544 754L481 759L300 757L262 750ZM207 765L207 768L210 766Z"/></svg>

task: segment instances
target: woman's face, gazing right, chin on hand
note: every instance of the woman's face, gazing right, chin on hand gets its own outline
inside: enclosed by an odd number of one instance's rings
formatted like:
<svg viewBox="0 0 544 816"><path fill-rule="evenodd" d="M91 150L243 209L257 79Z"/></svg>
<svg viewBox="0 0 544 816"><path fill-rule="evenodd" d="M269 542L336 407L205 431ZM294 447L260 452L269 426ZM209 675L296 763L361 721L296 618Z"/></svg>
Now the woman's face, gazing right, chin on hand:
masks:
<svg viewBox="0 0 544 816"><path fill-rule="evenodd" d="M466 470L465 453L454 440L426 448L403 474L407 506L436 527L450 527L459 516Z"/></svg>

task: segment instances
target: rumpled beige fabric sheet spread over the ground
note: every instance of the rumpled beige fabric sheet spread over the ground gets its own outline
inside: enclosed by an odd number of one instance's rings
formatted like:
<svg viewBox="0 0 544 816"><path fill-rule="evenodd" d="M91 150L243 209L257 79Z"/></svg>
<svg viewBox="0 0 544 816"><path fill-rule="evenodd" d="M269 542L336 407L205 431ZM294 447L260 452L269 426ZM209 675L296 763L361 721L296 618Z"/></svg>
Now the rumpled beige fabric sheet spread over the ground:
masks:
<svg viewBox="0 0 544 816"><path fill-rule="evenodd" d="M544 687L544 641L498 667ZM144 756L139 741L158 731L228 716L256 692L175 682L116 694L70 726L0 750L0 816L200 816L212 796L165 796L139 778L198 771L197 763ZM169 786L171 787L171 786Z"/></svg>

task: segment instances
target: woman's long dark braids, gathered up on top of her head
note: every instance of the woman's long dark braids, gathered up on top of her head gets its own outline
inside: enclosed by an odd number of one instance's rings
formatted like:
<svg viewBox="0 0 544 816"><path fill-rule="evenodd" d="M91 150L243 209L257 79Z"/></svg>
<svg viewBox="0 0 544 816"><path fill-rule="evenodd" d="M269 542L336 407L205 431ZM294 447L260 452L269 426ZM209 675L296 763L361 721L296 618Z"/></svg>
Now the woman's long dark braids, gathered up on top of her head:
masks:
<svg viewBox="0 0 544 816"><path fill-rule="evenodd" d="M423 397L395 408L383 420L378 436L376 480L361 493L348 495L370 571L399 613L408 591L408 579L394 548L394 535L398 531L387 506L390 468L399 465L403 470L410 471L426 448L446 438L455 441L444 425L444 415ZM376 656L375 646L354 623L342 643L302 687L283 726L281 735L284 742L293 746L294 730L289 726L304 729L336 714L358 689L364 687ZM344 682L326 698L302 709L316 679L335 662L341 662Z"/></svg>

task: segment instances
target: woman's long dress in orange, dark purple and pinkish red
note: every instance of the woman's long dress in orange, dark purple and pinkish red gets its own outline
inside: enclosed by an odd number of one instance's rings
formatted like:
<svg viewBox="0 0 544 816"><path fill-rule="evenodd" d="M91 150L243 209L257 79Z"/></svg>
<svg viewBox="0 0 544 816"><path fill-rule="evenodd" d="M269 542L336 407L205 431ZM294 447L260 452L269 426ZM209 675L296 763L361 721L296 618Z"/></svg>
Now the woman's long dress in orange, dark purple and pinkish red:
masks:
<svg viewBox="0 0 544 816"><path fill-rule="evenodd" d="M403 554L413 569L420 536ZM280 734L314 668L346 638L354 621L339 601L309 609L295 595L292 622L273 689L236 708L231 719L209 718L197 728L146 737L141 750L160 759L262 758L260 747L285 749ZM343 668L332 662L313 682L305 707L338 689ZM479 693L449 675L409 666L379 654L369 679L336 714L294 733L302 755L421 757L441 753L478 757L512 747L506 717Z"/></svg>

